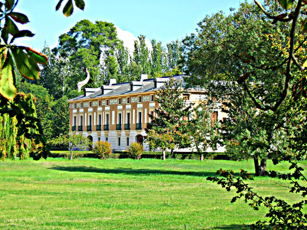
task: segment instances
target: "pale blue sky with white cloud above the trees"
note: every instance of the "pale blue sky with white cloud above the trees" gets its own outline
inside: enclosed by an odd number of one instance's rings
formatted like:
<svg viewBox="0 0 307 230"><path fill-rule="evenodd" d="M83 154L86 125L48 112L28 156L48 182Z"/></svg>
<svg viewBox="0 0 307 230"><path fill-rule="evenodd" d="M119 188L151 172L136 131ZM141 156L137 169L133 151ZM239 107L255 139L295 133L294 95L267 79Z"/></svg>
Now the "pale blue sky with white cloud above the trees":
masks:
<svg viewBox="0 0 307 230"><path fill-rule="evenodd" d="M66 18L62 9L55 11L58 0L19 0L15 12L24 13L29 23L18 24L18 29L29 29L35 34L32 38L16 39L18 45L41 51L46 43L56 47L58 37L69 31L82 19L108 21L117 27L118 37L124 45L133 49L133 40L145 35L147 43L151 39L162 45L176 39L182 40L195 32L197 23L206 14L238 8L240 0L84 0L84 11L75 7L72 16Z"/></svg>

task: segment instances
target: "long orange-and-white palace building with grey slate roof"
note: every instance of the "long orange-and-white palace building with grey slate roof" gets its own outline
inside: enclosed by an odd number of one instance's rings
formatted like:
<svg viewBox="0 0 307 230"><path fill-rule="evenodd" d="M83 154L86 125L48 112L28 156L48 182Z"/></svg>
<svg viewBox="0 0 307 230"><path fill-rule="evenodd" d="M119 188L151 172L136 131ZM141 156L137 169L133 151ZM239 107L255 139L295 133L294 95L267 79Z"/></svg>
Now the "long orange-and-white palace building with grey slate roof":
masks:
<svg viewBox="0 0 307 230"><path fill-rule="evenodd" d="M185 75L173 76L183 80ZM143 142L149 114L155 116L156 91L164 86L169 77L148 79L142 74L138 81L116 83L110 79L101 88L85 88L84 95L68 100L70 103L70 126L72 131L87 136L92 142L99 140L111 143L113 151L123 151L130 142ZM189 89L183 94L187 102L205 100L204 90ZM223 114L216 108L216 118ZM144 145L144 149L148 150ZM190 151L180 149L178 151ZM219 150L221 151L221 150Z"/></svg>

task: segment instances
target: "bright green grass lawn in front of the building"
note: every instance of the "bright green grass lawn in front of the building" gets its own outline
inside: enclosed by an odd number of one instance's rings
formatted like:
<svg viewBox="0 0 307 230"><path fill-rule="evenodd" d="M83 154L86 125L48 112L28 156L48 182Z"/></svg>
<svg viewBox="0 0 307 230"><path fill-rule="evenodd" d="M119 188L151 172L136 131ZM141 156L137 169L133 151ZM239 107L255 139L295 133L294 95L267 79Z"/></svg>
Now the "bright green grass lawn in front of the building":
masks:
<svg viewBox="0 0 307 230"><path fill-rule="evenodd" d="M223 160L7 160L0 162L0 229L241 229L266 209L231 204L235 192L206 177L253 167ZM268 169L287 167L268 162ZM301 198L277 183L286 185L267 177L249 182L262 196Z"/></svg>

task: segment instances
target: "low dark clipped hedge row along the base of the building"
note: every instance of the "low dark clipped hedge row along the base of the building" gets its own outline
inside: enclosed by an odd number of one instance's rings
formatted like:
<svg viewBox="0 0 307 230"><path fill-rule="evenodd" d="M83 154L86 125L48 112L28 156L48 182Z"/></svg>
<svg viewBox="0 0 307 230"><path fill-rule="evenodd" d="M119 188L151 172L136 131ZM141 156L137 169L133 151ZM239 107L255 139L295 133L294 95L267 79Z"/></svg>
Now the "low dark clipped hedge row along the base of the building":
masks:
<svg viewBox="0 0 307 230"><path fill-rule="evenodd" d="M89 158L98 158L92 151L73 151L72 153L74 158L80 157L89 157ZM200 159L200 155L198 154L171 154L170 152L165 153L167 159ZM63 157L63 158L70 158L70 151L51 151L49 157ZM122 158L129 158L128 154L125 152L114 152L110 155L111 159L122 159ZM154 152L154 151L146 151L145 154L141 156L141 158L152 158L152 159L162 159L161 152ZM229 160L230 158L226 154L222 153L207 153L204 154L204 159L215 159L215 160Z"/></svg>

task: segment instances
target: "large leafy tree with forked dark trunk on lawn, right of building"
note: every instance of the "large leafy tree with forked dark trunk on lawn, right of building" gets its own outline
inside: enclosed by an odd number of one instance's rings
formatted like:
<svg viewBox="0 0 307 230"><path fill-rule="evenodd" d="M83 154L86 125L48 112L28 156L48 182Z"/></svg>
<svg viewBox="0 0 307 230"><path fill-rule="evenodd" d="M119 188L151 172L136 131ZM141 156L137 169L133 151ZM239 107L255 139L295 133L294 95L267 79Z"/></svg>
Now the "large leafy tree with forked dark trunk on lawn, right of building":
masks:
<svg viewBox="0 0 307 230"><path fill-rule="evenodd" d="M271 6L278 9L278 4ZM269 65L280 65L279 56L282 54L280 48L271 49L274 41L269 39L269 34L276 34L281 44L287 44L289 25L273 25L263 19L257 6L243 2L237 12L227 17L222 12L206 16L198 26L197 33L183 41L185 71L191 75L186 81L206 87L208 91L215 92L217 98L230 98L230 102L226 100L223 103L224 112L228 113L222 125L224 144L239 143L237 138L246 132L255 140L272 142L272 130L283 120L281 117L276 120L275 114L268 112L266 116L272 116L267 119L270 127L267 124L267 129L261 129L262 122L256 115L255 107L267 111L274 103L279 103L282 79L285 79L284 68L279 67L277 71ZM265 64L267 59L271 60L270 64ZM245 82L246 79L248 82ZM242 84L237 81L242 81ZM254 96L251 98L250 95ZM257 148L247 148L250 150L247 154L233 151L234 148L227 150L235 157L241 154L237 159L252 158L256 175L264 174L270 150L258 152Z"/></svg>

